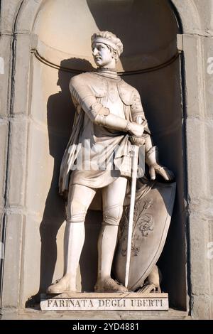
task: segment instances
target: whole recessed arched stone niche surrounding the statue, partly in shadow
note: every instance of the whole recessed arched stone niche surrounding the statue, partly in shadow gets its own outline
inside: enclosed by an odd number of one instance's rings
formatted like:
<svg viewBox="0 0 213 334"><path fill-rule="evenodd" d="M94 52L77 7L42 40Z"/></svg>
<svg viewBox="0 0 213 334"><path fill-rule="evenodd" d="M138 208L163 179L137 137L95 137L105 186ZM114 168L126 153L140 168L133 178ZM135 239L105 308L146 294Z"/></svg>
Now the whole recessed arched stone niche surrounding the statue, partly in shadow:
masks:
<svg viewBox="0 0 213 334"><path fill-rule="evenodd" d="M36 51L31 55L22 300L38 296L62 276L65 201L58 195L58 175L75 114L68 85L75 70L91 70L94 66L90 37L104 30L116 33L124 43L118 70L140 92L160 161L176 176L175 209L158 264L170 306L185 309L180 58L159 70L127 75L161 65L177 53L180 28L168 0L47 0L38 11L33 28ZM92 291L96 280L101 221L101 212L88 213L79 291Z"/></svg>

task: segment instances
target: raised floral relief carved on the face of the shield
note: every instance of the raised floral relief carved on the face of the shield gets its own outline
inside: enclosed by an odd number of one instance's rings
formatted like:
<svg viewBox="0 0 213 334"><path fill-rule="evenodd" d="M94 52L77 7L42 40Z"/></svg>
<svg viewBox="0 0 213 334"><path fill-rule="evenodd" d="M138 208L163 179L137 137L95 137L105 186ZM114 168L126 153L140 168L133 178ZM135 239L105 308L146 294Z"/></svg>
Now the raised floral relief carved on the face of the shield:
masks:
<svg viewBox="0 0 213 334"><path fill-rule="evenodd" d="M131 240L131 255L137 256L141 248L141 237L147 237L154 228L153 215L148 212L153 205L153 200L138 201L133 215L133 235ZM119 227L119 239L121 240L121 254L126 257L127 232L129 224L129 206L124 209Z"/></svg>

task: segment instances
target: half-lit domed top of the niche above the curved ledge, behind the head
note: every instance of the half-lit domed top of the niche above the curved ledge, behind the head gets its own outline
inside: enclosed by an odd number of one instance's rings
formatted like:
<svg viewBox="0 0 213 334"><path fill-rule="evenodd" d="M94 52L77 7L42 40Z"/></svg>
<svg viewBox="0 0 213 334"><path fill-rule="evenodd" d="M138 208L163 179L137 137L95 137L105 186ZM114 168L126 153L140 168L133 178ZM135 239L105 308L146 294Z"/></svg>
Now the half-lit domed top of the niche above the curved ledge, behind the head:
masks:
<svg viewBox="0 0 213 334"><path fill-rule="evenodd" d="M177 52L179 31L167 0L47 0L35 20L35 48L51 63L58 64L61 53L61 59L84 59L95 67L91 36L106 30L124 43L121 72L155 67Z"/></svg>

